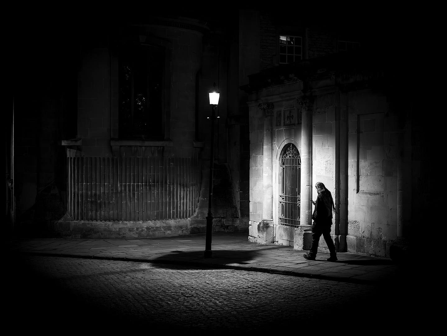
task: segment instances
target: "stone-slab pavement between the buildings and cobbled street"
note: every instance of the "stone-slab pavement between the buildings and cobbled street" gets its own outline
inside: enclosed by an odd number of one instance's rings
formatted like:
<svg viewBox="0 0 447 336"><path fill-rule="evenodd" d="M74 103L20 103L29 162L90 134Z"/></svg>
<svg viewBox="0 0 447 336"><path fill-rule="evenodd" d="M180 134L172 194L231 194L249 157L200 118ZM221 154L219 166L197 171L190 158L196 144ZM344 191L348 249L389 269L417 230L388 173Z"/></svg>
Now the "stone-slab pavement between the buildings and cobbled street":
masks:
<svg viewBox="0 0 447 336"><path fill-rule="evenodd" d="M205 234L139 239L19 239L10 244L13 254L232 268L368 285L392 280L404 271L403 265L390 259L352 253L338 253L338 261L329 262L329 253L318 252L316 260L310 261L303 257L306 251L290 246L249 242L247 232L213 233L212 258L205 259L204 250Z"/></svg>

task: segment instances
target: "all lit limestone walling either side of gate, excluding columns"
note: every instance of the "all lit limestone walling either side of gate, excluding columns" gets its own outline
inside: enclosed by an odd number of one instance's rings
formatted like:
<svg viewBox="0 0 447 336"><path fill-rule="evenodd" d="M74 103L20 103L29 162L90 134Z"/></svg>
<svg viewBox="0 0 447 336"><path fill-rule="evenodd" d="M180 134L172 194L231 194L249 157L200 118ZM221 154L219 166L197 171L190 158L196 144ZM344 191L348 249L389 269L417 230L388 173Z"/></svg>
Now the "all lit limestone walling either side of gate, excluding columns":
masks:
<svg viewBox="0 0 447 336"><path fill-rule="evenodd" d="M290 86L291 88L291 86ZM263 199L263 123L261 102L273 108L273 242L295 244L295 230L278 225L281 192L278 175L282 149L293 143L301 151L301 125L287 124L299 116L294 98L299 90L283 94L283 86L270 87L251 102L250 111L250 240L260 242L265 232L262 221ZM269 94L272 94L269 96ZM411 202L409 143L411 134L403 128L405 117L389 108L387 97L379 91L359 89L342 93L333 86L315 90L312 112L312 186L322 182L331 191L337 213L333 217L332 236L339 252L351 251L389 257L389 246L403 235L404 219ZM401 182L399 182L401 181ZM265 181L264 181L265 182ZM399 184L400 183L400 184ZM401 190L408 191L403 192ZM312 187L312 199L316 199ZM401 216L399 216L401 214ZM260 226L261 227L261 226ZM264 230L264 229L262 229ZM295 234L295 235L294 235ZM301 237L302 238L302 237ZM303 245L304 246L304 245ZM320 244L320 251L326 251Z"/></svg>

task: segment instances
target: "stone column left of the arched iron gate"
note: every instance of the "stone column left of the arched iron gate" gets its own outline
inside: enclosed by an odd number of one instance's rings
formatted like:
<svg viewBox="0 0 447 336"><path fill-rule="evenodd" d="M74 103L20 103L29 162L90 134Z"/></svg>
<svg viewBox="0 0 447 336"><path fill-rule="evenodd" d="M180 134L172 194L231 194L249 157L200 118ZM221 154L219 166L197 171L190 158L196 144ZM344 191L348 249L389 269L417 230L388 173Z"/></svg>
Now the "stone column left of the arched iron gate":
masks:
<svg viewBox="0 0 447 336"><path fill-rule="evenodd" d="M273 103L261 103L264 111L264 128L262 133L262 221L258 225L258 242L273 242L273 162L272 162L272 127Z"/></svg>

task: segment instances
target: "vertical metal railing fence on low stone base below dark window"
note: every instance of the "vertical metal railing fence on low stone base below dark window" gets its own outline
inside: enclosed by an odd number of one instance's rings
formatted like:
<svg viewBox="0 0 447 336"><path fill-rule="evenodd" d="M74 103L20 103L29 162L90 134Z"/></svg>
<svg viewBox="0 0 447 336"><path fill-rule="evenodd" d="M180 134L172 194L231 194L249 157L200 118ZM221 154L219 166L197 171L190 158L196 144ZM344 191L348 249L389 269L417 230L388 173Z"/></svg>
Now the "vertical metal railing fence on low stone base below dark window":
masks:
<svg viewBox="0 0 447 336"><path fill-rule="evenodd" d="M81 221L191 217L200 195L198 159L67 157L67 210Z"/></svg>

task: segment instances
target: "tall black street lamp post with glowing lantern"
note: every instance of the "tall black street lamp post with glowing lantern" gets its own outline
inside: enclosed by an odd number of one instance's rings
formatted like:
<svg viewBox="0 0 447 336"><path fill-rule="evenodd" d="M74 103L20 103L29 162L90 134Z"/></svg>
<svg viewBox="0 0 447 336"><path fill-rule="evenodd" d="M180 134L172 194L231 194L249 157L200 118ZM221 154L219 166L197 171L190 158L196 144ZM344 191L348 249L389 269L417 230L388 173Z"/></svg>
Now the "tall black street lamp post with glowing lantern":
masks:
<svg viewBox="0 0 447 336"><path fill-rule="evenodd" d="M205 258L211 258L213 252L211 251L211 233L213 230L213 165L214 165L214 119L216 119L216 107L219 104L219 94L217 92L210 92L211 105L211 144L210 144L210 187L208 195L208 216L207 216L207 235L205 239ZM217 117L219 118L219 117ZM210 119L208 117L208 119Z"/></svg>

